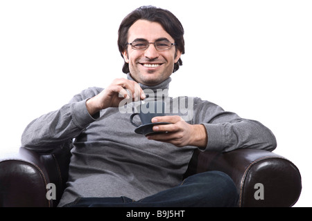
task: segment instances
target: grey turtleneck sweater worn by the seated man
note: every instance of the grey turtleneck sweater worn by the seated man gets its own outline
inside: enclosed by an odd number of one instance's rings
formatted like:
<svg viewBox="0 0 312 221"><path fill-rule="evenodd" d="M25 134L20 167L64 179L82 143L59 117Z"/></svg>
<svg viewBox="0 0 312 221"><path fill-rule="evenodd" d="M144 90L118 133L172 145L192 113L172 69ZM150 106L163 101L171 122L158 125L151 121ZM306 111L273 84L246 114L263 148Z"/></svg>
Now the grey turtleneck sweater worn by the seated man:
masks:
<svg viewBox="0 0 312 221"><path fill-rule="evenodd" d="M132 79L130 75L128 79ZM140 86L151 95L148 99L166 101L168 115L181 115L189 124L205 126L208 142L202 151L236 148L272 151L276 147L274 135L259 122L223 111L198 97L168 97L170 81L168 78L157 86ZM138 102L89 115L85 102L102 90L83 90L58 111L33 120L21 137L23 146L42 154L51 153L55 147L71 148L67 189L58 206L78 197L126 196L140 200L169 189L182 182L197 148L178 148L135 133L129 117Z"/></svg>

